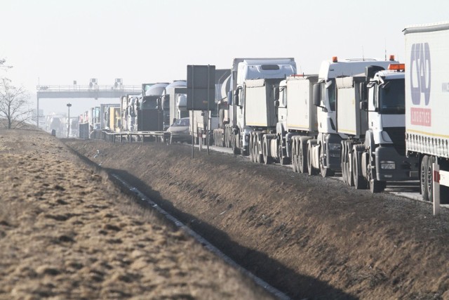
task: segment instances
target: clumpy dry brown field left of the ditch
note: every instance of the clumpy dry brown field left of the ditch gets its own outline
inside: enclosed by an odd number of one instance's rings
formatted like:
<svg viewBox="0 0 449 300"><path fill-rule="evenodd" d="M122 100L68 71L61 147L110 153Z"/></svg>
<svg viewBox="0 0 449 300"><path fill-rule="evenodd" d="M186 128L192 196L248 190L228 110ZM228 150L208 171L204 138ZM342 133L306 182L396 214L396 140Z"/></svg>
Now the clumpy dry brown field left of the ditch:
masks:
<svg viewBox="0 0 449 300"><path fill-rule="evenodd" d="M0 130L0 299L272 299L100 168Z"/></svg>

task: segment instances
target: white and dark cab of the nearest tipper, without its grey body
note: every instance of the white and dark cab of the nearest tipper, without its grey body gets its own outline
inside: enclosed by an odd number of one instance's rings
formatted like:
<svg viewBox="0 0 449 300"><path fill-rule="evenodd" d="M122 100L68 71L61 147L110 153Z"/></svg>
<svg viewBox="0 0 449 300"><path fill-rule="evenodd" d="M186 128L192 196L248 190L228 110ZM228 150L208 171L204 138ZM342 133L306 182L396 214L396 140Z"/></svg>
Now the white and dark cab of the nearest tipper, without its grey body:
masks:
<svg viewBox="0 0 449 300"><path fill-rule="evenodd" d="M390 64L387 70L366 68L361 107L368 112L368 131L361 174L365 175L369 186L373 185L372 190L382 190L386 181L418 178L417 159L406 157L404 70L404 64Z"/></svg>

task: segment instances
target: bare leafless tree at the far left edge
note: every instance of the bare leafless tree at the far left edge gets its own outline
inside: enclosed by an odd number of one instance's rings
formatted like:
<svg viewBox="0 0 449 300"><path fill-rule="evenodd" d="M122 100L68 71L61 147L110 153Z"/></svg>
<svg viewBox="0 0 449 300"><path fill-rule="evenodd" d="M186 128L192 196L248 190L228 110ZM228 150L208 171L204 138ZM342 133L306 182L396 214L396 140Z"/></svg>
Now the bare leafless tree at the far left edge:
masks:
<svg viewBox="0 0 449 300"><path fill-rule="evenodd" d="M23 87L11 85L11 80L0 79L0 118L7 129L16 129L32 119L29 93Z"/></svg>

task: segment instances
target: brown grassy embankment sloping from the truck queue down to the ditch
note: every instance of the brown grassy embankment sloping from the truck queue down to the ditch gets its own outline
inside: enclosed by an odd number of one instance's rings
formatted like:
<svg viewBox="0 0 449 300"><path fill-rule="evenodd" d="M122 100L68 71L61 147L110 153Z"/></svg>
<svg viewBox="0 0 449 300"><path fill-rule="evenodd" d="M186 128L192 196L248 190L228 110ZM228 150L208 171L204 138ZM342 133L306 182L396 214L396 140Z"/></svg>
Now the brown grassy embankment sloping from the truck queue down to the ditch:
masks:
<svg viewBox="0 0 449 300"><path fill-rule="evenodd" d="M449 299L447 210L183 145L67 145L294 299Z"/></svg>

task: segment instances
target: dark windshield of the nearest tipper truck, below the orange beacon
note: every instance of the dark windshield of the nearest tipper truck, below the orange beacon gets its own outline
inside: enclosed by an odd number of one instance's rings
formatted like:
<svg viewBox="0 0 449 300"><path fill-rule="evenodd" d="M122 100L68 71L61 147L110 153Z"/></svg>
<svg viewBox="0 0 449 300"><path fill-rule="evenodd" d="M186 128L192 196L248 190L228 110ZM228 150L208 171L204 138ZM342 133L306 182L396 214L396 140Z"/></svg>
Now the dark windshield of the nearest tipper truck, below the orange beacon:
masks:
<svg viewBox="0 0 449 300"><path fill-rule="evenodd" d="M404 79L386 80L379 86L379 111L384 115L406 113L406 88Z"/></svg>

